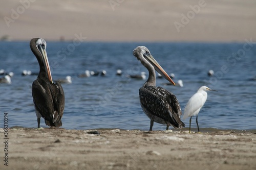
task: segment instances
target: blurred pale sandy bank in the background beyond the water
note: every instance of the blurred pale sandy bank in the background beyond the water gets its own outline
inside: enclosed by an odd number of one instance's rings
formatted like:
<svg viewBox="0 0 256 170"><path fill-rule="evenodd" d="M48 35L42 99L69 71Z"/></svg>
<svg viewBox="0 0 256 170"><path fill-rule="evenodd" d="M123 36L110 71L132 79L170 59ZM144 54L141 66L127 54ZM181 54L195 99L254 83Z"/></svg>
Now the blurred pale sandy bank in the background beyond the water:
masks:
<svg viewBox="0 0 256 170"><path fill-rule="evenodd" d="M253 0L10 0L1 2L0 38L256 41L255 9Z"/></svg>

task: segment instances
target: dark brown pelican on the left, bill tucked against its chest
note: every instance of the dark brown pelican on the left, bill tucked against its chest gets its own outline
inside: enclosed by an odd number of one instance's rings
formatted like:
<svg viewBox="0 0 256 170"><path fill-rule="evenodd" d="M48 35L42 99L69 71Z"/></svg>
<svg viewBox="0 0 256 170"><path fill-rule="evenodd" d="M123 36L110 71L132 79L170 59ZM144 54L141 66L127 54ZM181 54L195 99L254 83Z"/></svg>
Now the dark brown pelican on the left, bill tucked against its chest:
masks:
<svg viewBox="0 0 256 170"><path fill-rule="evenodd" d="M36 56L40 71L32 84L32 96L37 116L37 127L40 127L40 117L48 126L62 126L61 117L65 107L65 96L59 82L52 81L50 65L46 53L46 41L42 38L30 40L30 48Z"/></svg>

